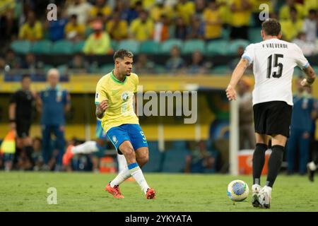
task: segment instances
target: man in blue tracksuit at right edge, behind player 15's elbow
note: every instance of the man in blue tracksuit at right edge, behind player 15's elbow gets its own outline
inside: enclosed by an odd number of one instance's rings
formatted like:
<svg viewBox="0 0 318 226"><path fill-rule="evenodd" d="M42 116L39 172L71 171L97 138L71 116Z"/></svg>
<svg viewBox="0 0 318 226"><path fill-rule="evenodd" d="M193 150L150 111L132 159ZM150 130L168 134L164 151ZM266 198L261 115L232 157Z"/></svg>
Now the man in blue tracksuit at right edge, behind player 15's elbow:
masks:
<svg viewBox="0 0 318 226"><path fill-rule="evenodd" d="M298 92L293 96L293 114L290 125L290 138L287 144L288 173L295 172L296 151L299 150L300 174L307 172L307 162L310 156L310 136L312 134L312 112L317 109L316 101L299 84L302 78L298 79Z"/></svg>

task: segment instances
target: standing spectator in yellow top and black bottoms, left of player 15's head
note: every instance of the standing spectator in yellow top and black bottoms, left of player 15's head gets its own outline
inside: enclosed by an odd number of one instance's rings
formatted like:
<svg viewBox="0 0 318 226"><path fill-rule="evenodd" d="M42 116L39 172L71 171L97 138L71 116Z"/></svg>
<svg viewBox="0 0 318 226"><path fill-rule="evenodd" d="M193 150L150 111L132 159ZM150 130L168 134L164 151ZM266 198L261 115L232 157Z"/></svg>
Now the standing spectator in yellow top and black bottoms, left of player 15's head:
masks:
<svg viewBox="0 0 318 226"><path fill-rule="evenodd" d="M232 23L230 39L248 40L249 18L252 14L252 0L232 0Z"/></svg>

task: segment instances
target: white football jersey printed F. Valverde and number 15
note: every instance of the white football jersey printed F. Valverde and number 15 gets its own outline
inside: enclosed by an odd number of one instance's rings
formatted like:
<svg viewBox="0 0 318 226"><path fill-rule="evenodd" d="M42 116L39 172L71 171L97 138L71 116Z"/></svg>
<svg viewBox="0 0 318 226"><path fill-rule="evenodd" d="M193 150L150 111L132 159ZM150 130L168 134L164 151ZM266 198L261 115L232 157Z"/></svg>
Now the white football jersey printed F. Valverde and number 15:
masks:
<svg viewBox="0 0 318 226"><path fill-rule="evenodd" d="M299 66L303 69L309 66L297 44L276 38L249 44L242 58L253 64L253 105L278 100L293 105L294 68Z"/></svg>

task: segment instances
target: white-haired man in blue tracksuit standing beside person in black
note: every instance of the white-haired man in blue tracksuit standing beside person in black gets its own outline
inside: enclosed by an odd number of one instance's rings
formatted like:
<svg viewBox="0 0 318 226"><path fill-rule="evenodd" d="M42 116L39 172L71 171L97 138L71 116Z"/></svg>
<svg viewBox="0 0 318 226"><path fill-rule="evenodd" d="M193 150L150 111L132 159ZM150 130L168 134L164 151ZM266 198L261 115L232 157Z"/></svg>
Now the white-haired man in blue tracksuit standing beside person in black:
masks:
<svg viewBox="0 0 318 226"><path fill-rule="evenodd" d="M55 170L59 170L65 148L65 113L71 107L71 97L66 90L61 90L57 69L50 69L47 72L47 82L49 86L41 91L39 98L37 98L37 109L42 113L42 155L45 167L47 167L50 158L51 134L54 133L56 137L55 148L59 150Z"/></svg>

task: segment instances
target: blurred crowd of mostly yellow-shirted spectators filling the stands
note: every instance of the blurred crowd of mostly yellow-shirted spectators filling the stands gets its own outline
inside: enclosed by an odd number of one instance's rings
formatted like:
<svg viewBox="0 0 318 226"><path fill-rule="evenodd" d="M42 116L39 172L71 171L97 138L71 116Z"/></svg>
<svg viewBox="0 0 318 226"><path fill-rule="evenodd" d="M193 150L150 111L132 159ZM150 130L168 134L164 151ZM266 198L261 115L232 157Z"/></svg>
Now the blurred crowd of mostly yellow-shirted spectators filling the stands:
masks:
<svg viewBox="0 0 318 226"><path fill-rule="evenodd" d="M49 21L52 8L57 6L57 20ZM66 65L80 72L96 72L87 56L112 54L116 44L124 40L143 43L149 40L164 43L168 40L259 40L260 4L267 4L269 17L281 22L283 40L297 43L306 56L317 54L317 9L314 0L4 0L0 4L0 68L41 69L44 64L35 54L17 56L6 47L15 40L31 43L42 40L83 42L83 46ZM259 37L259 38L258 38ZM131 44L132 45L132 44ZM246 45L246 44L245 44ZM45 45L43 46L45 48ZM238 46L235 54L240 56ZM195 50L184 58L179 46L172 46L170 58L155 70L155 61L147 54L136 60L136 72L211 73L213 62L205 53ZM226 64L228 71L231 65ZM99 66L98 66L99 67Z"/></svg>

